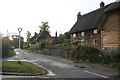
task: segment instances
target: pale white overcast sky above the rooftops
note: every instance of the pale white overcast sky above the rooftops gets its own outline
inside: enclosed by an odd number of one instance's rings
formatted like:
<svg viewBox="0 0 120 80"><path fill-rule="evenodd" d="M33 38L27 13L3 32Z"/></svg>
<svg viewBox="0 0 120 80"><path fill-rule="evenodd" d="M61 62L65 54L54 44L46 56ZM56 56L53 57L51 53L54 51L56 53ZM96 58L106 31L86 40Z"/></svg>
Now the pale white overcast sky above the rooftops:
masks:
<svg viewBox="0 0 120 80"><path fill-rule="evenodd" d="M26 32L39 32L41 22L49 22L51 35L69 31L77 19L78 12L86 14L98 9L100 2L105 5L116 0L0 0L0 32L17 33L23 28Z"/></svg>

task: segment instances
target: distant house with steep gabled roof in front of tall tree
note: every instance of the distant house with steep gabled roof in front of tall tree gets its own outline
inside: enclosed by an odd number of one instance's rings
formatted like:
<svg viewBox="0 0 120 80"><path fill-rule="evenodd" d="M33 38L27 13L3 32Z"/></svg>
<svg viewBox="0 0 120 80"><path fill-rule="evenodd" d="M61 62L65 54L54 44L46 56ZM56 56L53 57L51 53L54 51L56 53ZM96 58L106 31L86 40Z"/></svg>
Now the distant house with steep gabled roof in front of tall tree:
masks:
<svg viewBox="0 0 120 80"><path fill-rule="evenodd" d="M57 37L57 32L55 33L55 37L51 36L48 31L44 30L37 34L35 32L34 36L30 39L30 44L36 43L47 43L47 44L60 44L61 38Z"/></svg>

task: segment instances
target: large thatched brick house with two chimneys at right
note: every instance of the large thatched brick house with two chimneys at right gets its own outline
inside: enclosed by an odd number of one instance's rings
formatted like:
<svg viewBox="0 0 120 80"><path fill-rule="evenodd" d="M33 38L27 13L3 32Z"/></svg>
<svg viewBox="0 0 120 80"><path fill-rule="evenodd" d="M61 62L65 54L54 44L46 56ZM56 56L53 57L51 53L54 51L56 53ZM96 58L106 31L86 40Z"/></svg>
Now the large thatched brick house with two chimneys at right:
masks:
<svg viewBox="0 0 120 80"><path fill-rule="evenodd" d="M100 3L100 8L81 15L70 30L71 44L88 45L98 49L118 47L120 30L120 1L109 5ZM120 35L119 35L120 37Z"/></svg>

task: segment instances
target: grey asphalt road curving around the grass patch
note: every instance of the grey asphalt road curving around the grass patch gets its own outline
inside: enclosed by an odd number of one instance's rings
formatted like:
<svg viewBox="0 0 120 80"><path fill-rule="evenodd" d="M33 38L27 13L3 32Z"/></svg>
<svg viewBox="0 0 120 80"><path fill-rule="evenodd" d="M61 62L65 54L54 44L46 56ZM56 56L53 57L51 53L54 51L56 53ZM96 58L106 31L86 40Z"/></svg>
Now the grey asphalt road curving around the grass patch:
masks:
<svg viewBox="0 0 120 80"><path fill-rule="evenodd" d="M24 60L37 65L41 65L49 71L49 74L44 76L12 76L3 75L2 80L39 80L39 79L79 79L79 78L102 78L108 79L118 74L116 70L90 65L73 63L59 57L52 57L43 54L33 53L29 51L16 50L16 56L7 58L6 60ZM63 79L63 80L64 80Z"/></svg>

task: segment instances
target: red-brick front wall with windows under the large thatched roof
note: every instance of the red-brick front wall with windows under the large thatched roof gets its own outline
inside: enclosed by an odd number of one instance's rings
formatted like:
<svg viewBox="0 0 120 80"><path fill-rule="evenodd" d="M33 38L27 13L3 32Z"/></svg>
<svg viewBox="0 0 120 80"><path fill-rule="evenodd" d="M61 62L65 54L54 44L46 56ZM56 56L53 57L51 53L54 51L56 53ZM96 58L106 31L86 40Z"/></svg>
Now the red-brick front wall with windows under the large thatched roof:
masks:
<svg viewBox="0 0 120 80"><path fill-rule="evenodd" d="M73 44L77 40L80 41L80 40L84 39L85 45L101 49L101 31L98 31L97 34L93 34L93 30L94 29L84 31L85 32L84 36L81 36L80 32L75 33L75 34L77 34L76 37L73 37L73 34L71 34L71 44ZM93 45L94 39L97 40L97 45Z"/></svg>

